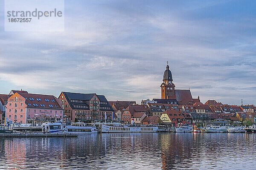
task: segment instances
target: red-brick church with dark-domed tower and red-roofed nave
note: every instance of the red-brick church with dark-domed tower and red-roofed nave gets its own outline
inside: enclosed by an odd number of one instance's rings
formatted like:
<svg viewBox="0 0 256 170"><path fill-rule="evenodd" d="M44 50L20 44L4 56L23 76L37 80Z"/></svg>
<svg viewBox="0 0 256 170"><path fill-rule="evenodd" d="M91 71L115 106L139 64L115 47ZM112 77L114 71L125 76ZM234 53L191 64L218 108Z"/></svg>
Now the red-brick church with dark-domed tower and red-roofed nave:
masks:
<svg viewBox="0 0 256 170"><path fill-rule="evenodd" d="M166 70L163 73L163 83L161 87L161 99L153 99L157 103L174 103L177 105L193 105L195 102L200 102L199 96L196 99L192 98L190 90L175 89L172 79L172 72L169 70L167 62Z"/></svg>

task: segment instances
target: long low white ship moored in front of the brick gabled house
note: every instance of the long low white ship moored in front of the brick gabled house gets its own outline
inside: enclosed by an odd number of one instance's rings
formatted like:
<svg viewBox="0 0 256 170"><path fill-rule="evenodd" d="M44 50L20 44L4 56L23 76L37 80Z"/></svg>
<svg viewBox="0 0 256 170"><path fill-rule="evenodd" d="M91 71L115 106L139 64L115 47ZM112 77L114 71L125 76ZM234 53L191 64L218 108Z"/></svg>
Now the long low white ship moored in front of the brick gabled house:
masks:
<svg viewBox="0 0 256 170"><path fill-rule="evenodd" d="M111 126L101 125L102 133L136 133L136 132L157 132L156 126Z"/></svg>

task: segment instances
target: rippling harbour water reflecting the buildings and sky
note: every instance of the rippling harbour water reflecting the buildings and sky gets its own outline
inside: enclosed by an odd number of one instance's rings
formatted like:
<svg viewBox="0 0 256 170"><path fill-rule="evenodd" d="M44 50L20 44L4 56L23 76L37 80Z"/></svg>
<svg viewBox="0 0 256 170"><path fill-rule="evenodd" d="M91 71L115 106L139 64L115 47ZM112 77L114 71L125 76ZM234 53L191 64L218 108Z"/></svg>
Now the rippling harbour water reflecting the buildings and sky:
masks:
<svg viewBox="0 0 256 170"><path fill-rule="evenodd" d="M256 169L256 134L105 133L0 144L1 170Z"/></svg>

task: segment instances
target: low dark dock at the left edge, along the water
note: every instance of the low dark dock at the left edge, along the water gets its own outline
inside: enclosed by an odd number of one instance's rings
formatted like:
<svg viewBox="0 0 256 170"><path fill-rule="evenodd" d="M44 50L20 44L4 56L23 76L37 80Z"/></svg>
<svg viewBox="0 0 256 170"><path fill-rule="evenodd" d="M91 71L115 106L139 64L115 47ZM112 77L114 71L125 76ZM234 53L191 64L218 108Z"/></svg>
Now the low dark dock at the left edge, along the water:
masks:
<svg viewBox="0 0 256 170"><path fill-rule="evenodd" d="M76 134L31 134L31 133L0 133L1 138L35 138L35 137L77 137Z"/></svg>

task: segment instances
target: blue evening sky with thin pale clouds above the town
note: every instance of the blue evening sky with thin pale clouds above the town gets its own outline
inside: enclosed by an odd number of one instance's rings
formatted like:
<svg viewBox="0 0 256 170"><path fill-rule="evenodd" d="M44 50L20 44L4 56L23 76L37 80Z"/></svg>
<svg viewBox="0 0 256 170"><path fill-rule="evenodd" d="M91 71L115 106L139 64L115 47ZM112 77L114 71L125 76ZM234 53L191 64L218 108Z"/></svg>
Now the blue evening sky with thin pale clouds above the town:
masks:
<svg viewBox="0 0 256 170"><path fill-rule="evenodd" d="M0 94L96 93L160 98L169 61L176 89L201 102L256 104L256 1L65 1L65 31L4 31Z"/></svg>

